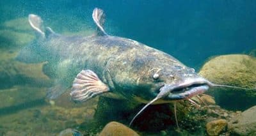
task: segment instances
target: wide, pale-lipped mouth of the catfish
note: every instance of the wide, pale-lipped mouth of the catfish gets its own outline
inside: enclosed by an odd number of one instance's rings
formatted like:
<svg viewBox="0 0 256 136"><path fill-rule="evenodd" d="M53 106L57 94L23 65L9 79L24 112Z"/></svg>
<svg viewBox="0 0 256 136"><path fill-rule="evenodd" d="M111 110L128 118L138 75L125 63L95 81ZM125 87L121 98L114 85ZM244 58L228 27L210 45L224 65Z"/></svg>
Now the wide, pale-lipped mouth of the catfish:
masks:
<svg viewBox="0 0 256 136"><path fill-rule="evenodd" d="M164 99L166 100L183 100L205 93L210 85L208 80L202 78L190 79L177 86L164 85L160 91L165 93Z"/></svg>

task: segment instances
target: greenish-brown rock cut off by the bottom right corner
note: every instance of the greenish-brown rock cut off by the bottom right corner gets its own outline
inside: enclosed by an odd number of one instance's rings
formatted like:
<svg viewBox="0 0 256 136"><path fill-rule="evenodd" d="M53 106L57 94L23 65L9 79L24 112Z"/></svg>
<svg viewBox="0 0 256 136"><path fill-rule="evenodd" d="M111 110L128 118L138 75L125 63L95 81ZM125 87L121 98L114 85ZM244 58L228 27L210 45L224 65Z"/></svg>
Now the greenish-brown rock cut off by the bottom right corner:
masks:
<svg viewBox="0 0 256 136"><path fill-rule="evenodd" d="M228 131L234 135L256 135L256 105L228 122Z"/></svg>

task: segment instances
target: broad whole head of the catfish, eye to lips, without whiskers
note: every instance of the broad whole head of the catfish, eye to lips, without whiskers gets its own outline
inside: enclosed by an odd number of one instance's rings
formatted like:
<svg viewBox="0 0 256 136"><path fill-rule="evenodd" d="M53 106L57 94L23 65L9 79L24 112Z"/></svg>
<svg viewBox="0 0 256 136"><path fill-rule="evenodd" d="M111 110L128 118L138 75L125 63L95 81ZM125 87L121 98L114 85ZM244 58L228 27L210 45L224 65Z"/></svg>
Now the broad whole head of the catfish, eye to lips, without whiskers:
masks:
<svg viewBox="0 0 256 136"><path fill-rule="evenodd" d="M185 66L176 59L147 62L138 75L140 77L137 80L137 85L142 89L136 96L144 100L152 100L157 97L159 98L158 102L161 100L160 103L191 98L204 93L211 85L193 68Z"/></svg>

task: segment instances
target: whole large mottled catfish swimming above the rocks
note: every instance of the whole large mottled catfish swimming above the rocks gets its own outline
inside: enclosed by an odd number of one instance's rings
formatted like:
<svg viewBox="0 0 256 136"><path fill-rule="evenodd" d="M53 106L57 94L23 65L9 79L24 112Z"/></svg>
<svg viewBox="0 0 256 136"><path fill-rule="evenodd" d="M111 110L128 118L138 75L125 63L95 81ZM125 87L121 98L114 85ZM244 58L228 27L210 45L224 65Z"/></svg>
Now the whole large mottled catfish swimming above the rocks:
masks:
<svg viewBox="0 0 256 136"><path fill-rule="evenodd" d="M74 102L86 102L104 93L147 103L147 107L189 99L211 86L221 86L169 54L128 38L108 35L103 27L104 13L99 8L93 10L92 17L97 26L93 36L63 36L50 27L44 30L42 19L29 15L36 40L24 47L17 59L25 63L47 61L54 69L56 86L49 89L48 98L57 98L72 85L70 95Z"/></svg>

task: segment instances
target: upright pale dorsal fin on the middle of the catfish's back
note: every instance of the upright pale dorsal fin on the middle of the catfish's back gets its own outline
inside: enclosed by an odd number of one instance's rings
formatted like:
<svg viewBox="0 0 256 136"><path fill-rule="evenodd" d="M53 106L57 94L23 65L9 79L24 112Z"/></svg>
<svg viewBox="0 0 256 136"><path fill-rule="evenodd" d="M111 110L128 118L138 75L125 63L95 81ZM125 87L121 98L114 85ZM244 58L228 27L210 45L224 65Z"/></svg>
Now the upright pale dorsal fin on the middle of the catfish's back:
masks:
<svg viewBox="0 0 256 136"><path fill-rule="evenodd" d="M97 25L97 35L99 36L108 35L103 29L103 24L105 22L104 18L105 18L104 11L101 10L100 8L94 8L92 13L92 19Z"/></svg>

